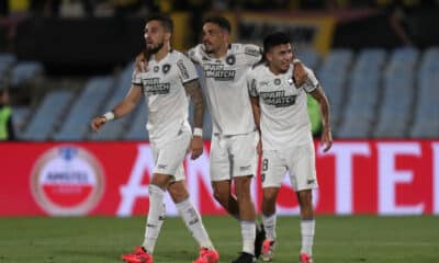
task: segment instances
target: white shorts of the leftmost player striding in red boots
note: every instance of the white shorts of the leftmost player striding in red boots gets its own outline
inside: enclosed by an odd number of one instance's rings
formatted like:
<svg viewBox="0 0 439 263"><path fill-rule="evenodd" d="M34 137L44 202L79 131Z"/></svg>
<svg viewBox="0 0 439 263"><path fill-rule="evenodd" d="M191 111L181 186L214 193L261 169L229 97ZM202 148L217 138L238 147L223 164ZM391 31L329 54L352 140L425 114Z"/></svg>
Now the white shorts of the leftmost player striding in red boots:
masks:
<svg viewBox="0 0 439 263"><path fill-rule="evenodd" d="M181 129L178 135L170 138L161 147L151 141L150 148L154 157L154 173L169 174L172 181L184 180L183 161L192 139L190 129Z"/></svg>

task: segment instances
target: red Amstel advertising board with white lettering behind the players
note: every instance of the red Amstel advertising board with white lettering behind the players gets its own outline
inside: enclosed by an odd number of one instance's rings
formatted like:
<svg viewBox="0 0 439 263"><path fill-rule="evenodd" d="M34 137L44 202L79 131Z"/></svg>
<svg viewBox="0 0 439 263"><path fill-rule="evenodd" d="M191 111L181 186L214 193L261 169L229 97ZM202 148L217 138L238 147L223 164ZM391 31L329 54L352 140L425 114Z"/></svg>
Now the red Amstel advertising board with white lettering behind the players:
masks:
<svg viewBox="0 0 439 263"><path fill-rule="evenodd" d="M0 216L144 215L154 161L147 142L0 144ZM213 199L209 142L184 162L192 202L202 214L225 214ZM439 140L316 144L318 214L439 215ZM252 195L260 208L260 180ZM169 198L167 214L177 215ZM289 176L278 213L299 213Z"/></svg>

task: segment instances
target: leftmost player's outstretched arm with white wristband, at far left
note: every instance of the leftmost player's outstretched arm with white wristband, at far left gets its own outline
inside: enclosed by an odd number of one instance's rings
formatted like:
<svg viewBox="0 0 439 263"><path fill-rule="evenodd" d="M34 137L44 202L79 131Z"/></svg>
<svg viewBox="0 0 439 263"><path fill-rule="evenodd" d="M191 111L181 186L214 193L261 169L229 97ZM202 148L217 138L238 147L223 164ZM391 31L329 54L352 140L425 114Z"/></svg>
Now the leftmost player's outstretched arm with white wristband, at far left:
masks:
<svg viewBox="0 0 439 263"><path fill-rule="evenodd" d="M105 114L94 117L91 121L91 129L93 132L99 132L101 127L106 123L114 118L123 117L124 115L132 112L138 101L142 98L142 88L139 85L133 84L126 94L126 96L110 112Z"/></svg>

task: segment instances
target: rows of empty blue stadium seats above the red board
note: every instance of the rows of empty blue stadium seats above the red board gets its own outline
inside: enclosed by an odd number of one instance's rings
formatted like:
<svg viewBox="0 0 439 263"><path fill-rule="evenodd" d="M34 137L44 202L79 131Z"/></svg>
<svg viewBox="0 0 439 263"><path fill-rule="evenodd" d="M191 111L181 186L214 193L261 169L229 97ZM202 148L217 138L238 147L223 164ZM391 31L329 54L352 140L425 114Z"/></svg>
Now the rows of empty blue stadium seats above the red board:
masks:
<svg viewBox="0 0 439 263"><path fill-rule="evenodd" d="M297 57L315 70L330 100L335 138L438 136L439 47L424 52L408 47L359 52L344 48L333 49L326 57L304 49L297 52ZM20 65L23 64L13 56L0 55L0 73L24 76L18 73L23 70L16 69L23 67ZM202 72L198 70L203 85ZM93 134L89 128L93 116L111 110L125 96L132 71L133 61L113 77L89 79L79 95L53 89L35 110L15 107L18 135L26 140L148 139L144 100L133 113L109 123L101 133ZM192 122L191 112L192 106ZM203 137L210 139L211 133L212 121L206 113Z"/></svg>

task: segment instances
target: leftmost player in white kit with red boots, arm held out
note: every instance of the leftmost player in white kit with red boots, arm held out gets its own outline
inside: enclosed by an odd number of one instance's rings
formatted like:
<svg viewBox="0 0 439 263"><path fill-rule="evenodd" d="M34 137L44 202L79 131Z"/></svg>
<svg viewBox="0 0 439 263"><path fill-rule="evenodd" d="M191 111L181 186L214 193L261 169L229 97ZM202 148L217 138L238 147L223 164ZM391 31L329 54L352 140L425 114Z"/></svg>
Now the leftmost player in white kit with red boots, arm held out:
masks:
<svg viewBox="0 0 439 263"><path fill-rule="evenodd" d="M172 28L173 23L168 16L156 14L147 19L144 30L146 52L149 54L147 70L135 70L132 88L125 99L113 111L95 117L91 124L92 129L98 132L106 122L133 111L142 94L145 95L155 169L148 187L149 211L145 239L142 247L122 256L128 263L153 262L154 248L164 222L167 190L185 226L200 244L200 255L194 263L215 263L219 259L184 184L182 162L188 148L192 151L192 159L203 151L201 128L204 103L194 65L185 55L170 47ZM188 95L194 104L193 137L188 122Z"/></svg>

